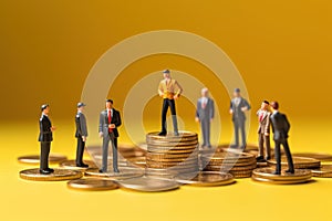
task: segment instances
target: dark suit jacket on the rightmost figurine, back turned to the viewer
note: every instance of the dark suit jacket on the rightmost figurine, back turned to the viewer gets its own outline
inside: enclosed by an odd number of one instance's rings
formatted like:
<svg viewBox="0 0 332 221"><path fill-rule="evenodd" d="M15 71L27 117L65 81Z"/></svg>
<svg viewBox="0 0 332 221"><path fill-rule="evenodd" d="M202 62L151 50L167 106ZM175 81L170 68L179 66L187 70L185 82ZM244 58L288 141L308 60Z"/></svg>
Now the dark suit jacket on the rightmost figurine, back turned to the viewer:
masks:
<svg viewBox="0 0 332 221"><path fill-rule="evenodd" d="M284 114L279 112L271 115L271 124L273 131L273 140L284 141L288 138L288 131L290 129L290 124Z"/></svg>

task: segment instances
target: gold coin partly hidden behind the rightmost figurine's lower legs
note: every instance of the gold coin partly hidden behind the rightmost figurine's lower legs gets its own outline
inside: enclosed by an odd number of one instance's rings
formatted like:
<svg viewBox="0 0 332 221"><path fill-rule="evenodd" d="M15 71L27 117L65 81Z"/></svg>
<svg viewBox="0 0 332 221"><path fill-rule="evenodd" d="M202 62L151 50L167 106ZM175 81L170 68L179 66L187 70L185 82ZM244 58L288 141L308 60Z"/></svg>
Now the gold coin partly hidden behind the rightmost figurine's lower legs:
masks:
<svg viewBox="0 0 332 221"><path fill-rule="evenodd" d="M307 157L292 157L294 169L311 169L311 168L320 168L321 161ZM269 166L277 165L276 159L268 160ZM287 157L281 157L281 166L288 166Z"/></svg>

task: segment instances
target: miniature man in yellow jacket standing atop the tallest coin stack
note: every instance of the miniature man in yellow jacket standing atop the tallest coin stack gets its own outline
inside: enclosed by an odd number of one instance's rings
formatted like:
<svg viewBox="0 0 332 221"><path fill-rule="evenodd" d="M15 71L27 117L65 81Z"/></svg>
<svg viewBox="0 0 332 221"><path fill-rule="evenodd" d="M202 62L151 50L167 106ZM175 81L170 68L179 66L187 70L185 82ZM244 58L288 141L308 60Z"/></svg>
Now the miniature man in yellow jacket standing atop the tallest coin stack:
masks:
<svg viewBox="0 0 332 221"><path fill-rule="evenodd" d="M167 115L168 107L170 107L174 135L178 136L177 118L176 118L176 109L175 109L174 101L180 96L183 88L177 83L177 81L170 77L169 70L163 71L163 74L164 74L164 80L160 81L158 87L158 94L160 97L164 98L163 109L162 109L162 131L159 133L159 136L167 135L166 115Z"/></svg>

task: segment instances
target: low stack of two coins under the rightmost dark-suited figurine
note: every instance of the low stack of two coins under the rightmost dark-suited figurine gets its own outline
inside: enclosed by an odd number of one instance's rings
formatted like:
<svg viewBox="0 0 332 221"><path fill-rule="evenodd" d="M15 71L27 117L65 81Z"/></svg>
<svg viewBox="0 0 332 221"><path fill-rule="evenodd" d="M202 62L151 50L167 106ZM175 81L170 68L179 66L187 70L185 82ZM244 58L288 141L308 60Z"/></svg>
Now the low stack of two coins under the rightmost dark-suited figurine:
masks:
<svg viewBox="0 0 332 221"><path fill-rule="evenodd" d="M259 168L253 170L252 180L271 185L294 185L310 181L312 173L309 169L295 169L294 173L274 175L273 168Z"/></svg>

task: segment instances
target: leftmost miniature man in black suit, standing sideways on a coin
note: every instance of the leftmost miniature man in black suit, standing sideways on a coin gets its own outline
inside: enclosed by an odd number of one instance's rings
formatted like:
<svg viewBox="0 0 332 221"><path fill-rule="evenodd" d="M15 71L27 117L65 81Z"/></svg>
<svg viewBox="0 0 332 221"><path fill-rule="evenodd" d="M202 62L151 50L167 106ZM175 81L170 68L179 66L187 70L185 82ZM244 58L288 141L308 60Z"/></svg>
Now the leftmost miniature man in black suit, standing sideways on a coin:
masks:
<svg viewBox="0 0 332 221"><path fill-rule="evenodd" d="M49 168L49 155L51 149L51 141L53 140L52 131L55 130L55 127L52 126L52 123L49 118L50 106L43 104L41 106L42 116L39 120L40 134L40 173L50 175L54 172L53 169Z"/></svg>

